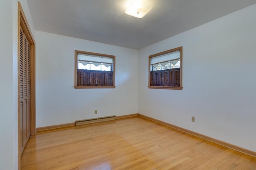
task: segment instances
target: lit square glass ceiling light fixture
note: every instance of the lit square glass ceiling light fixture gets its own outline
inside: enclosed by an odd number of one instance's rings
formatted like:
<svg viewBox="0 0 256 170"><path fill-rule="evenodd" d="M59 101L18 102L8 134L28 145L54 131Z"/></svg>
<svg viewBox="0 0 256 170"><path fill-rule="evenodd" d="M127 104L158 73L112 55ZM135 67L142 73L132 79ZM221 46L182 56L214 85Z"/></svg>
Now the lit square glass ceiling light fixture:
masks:
<svg viewBox="0 0 256 170"><path fill-rule="evenodd" d="M137 18L143 18L150 10L152 6L145 4L142 0L132 0L125 10L125 13Z"/></svg>

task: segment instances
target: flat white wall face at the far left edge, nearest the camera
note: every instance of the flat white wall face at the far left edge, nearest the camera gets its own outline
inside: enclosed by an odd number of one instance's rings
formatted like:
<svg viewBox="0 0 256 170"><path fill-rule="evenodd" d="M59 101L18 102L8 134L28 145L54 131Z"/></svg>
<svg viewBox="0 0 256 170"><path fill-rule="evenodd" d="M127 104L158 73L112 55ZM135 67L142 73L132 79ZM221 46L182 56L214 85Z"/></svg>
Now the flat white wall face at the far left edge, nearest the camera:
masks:
<svg viewBox="0 0 256 170"><path fill-rule="evenodd" d="M0 169L13 169L12 1L0 1Z"/></svg>

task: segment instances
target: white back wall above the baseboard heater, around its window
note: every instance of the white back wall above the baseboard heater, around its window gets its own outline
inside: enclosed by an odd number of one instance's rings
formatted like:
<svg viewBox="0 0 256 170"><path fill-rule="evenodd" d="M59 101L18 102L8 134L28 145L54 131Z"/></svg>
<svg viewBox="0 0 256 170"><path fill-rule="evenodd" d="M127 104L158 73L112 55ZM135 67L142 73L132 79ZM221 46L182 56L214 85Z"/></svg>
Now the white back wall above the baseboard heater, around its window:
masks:
<svg viewBox="0 0 256 170"><path fill-rule="evenodd" d="M115 55L116 88L74 89L75 50ZM138 50L36 31L36 127L133 113L138 113Z"/></svg>

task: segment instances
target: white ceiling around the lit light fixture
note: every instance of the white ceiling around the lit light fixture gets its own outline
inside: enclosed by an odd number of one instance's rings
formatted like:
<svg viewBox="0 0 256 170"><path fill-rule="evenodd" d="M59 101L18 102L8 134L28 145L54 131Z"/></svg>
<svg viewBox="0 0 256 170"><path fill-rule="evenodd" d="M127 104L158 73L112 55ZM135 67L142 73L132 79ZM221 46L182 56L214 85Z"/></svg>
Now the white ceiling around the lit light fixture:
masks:
<svg viewBox="0 0 256 170"><path fill-rule="evenodd" d="M36 30L141 49L215 20L256 0L143 0L144 18L124 13L129 0L27 0Z"/></svg>

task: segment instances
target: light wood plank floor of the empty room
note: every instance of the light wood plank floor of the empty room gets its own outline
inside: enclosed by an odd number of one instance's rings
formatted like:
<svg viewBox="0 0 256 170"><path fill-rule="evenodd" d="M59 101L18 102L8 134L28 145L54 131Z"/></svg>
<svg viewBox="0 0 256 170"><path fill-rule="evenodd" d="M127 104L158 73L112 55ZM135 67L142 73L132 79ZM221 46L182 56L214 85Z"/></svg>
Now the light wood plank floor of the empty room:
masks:
<svg viewBox="0 0 256 170"><path fill-rule="evenodd" d="M140 117L40 132L22 170L256 170L256 158Z"/></svg>

